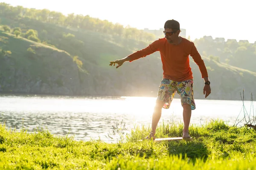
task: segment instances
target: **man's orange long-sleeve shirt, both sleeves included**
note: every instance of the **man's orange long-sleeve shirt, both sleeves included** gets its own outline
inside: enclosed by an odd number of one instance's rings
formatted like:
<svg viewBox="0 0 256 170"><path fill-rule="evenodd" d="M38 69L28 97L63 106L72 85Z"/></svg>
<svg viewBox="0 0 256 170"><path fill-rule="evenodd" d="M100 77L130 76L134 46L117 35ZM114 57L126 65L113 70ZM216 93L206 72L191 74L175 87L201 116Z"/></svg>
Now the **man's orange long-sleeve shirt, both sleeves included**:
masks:
<svg viewBox="0 0 256 170"><path fill-rule="evenodd" d="M182 37L180 44L172 45L165 38L158 39L148 47L129 55L132 62L141 57L146 57L156 51L160 52L163 63L163 78L177 82L192 79L192 71L189 65L189 55L194 59L201 72L202 78L208 77L204 60L198 53L195 44Z"/></svg>

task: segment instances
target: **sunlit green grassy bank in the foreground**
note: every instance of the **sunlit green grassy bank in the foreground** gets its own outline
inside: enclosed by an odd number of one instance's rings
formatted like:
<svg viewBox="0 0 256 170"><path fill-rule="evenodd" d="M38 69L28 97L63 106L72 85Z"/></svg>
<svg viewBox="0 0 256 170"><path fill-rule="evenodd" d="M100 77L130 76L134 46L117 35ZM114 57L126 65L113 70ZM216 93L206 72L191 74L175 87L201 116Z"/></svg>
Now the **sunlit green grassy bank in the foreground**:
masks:
<svg viewBox="0 0 256 170"><path fill-rule="evenodd" d="M222 121L191 126L191 142L135 142L148 134L148 127L135 128L115 144L6 128L0 125L0 169L256 169L256 131ZM157 137L180 136L182 125L162 124L157 130Z"/></svg>

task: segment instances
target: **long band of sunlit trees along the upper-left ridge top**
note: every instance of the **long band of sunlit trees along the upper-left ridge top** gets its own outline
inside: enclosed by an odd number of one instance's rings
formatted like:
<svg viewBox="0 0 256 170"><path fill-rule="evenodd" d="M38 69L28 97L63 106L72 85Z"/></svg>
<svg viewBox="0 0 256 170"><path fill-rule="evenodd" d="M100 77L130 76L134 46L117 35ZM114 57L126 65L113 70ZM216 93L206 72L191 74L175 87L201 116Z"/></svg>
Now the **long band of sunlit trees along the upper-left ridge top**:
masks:
<svg viewBox="0 0 256 170"><path fill-rule="evenodd" d="M140 40L154 40L154 36L148 36L148 34L144 31L141 32L141 30L138 29L126 30L126 28L120 24L113 24L108 20L92 18L89 15L83 16L75 15L72 13L68 14L66 17L60 12L49 11L48 9L37 10L34 8L23 8L22 6L13 7L6 3L0 3L0 15L6 16L9 19L17 19L22 17L29 20L39 20L41 22L58 24L61 26L70 26L73 28L81 28L95 32L102 32L104 34L118 35L135 40L139 39L139 37L136 35L140 34Z"/></svg>

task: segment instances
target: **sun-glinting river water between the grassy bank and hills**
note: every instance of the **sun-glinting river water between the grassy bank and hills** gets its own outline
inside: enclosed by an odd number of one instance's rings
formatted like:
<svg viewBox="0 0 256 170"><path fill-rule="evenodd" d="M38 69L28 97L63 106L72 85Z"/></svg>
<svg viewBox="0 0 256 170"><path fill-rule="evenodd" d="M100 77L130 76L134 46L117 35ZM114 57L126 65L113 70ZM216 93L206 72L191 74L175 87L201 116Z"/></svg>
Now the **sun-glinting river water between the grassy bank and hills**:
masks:
<svg viewBox="0 0 256 170"><path fill-rule="evenodd" d="M22 127L29 132L37 127L52 134L74 136L75 140L101 139L110 142L108 133L112 125L125 123L127 133L134 126L151 125L154 97L71 97L71 96L0 96L0 124L6 128ZM233 125L244 117L244 110L256 114L256 104L251 101L199 100L192 111L191 124L204 125L211 119L223 119ZM252 105L253 104L253 105ZM242 110L241 110L242 109ZM239 115L240 113L240 115ZM183 122L180 99L174 99L169 109L163 109L160 122ZM243 122L241 122L243 123Z"/></svg>

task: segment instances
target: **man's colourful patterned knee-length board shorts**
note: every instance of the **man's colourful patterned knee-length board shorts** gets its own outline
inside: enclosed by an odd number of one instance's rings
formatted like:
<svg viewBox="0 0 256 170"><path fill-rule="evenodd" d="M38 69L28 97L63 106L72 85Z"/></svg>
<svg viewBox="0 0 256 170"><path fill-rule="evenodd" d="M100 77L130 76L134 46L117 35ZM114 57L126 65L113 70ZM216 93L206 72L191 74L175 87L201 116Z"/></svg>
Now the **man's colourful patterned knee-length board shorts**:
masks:
<svg viewBox="0 0 256 170"><path fill-rule="evenodd" d="M193 79L183 82L176 82L170 79L163 79L158 89L157 100L164 101L163 108L169 109L175 93L180 95L181 105L191 105L191 110L195 110L193 94Z"/></svg>

